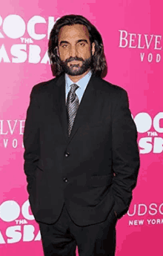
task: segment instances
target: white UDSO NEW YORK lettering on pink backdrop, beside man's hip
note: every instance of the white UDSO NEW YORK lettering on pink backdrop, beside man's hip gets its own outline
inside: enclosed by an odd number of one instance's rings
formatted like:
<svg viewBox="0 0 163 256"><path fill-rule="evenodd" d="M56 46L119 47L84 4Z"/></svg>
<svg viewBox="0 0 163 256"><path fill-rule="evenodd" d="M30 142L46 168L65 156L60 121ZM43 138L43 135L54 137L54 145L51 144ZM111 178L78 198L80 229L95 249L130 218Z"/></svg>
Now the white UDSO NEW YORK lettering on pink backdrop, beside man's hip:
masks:
<svg viewBox="0 0 163 256"><path fill-rule="evenodd" d="M130 206L127 215L130 217L128 226L163 224L163 203L134 204Z"/></svg>

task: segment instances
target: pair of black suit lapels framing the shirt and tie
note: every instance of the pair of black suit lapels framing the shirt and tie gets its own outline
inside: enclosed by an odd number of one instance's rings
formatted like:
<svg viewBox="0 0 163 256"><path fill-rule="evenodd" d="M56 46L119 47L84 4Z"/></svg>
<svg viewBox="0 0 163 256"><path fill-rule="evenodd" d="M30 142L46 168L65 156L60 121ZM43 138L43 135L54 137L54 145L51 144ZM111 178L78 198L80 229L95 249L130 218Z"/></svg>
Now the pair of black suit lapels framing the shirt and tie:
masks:
<svg viewBox="0 0 163 256"><path fill-rule="evenodd" d="M70 137L68 137L67 133L67 111L65 105L65 77L64 74L59 76L56 81L56 85L58 87L58 93L53 93L54 96L54 104L56 109L58 110L59 120L61 122L61 127L63 129L64 137L67 143L69 143L76 131L79 129L81 125L84 125L87 121L89 121L90 116L92 116L94 105L96 104L96 91L94 90L94 84L96 83L95 76L91 76L90 81L87 84L87 88L84 91L84 95L82 96L82 100L79 104L79 108L76 114L76 118L73 122L73 128L70 133Z"/></svg>

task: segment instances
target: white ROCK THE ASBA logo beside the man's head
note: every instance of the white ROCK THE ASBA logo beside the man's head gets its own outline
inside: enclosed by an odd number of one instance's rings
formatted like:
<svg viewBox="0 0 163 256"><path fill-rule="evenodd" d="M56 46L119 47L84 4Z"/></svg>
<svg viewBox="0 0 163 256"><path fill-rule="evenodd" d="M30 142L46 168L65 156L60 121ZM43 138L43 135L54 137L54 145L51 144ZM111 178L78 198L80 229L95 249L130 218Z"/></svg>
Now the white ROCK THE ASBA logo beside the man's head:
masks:
<svg viewBox="0 0 163 256"><path fill-rule="evenodd" d="M0 16L0 62L50 63L47 40L55 22L53 16L47 20L42 16L33 16L28 21L16 14L4 19ZM46 50L40 44L44 39Z"/></svg>

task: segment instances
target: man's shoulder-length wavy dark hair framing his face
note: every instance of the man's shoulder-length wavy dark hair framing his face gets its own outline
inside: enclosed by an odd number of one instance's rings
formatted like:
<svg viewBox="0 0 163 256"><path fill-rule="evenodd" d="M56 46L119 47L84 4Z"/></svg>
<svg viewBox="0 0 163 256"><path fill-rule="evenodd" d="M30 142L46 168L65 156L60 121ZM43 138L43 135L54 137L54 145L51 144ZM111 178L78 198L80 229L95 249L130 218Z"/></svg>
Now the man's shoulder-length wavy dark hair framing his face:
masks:
<svg viewBox="0 0 163 256"><path fill-rule="evenodd" d="M95 43L95 53L92 58L91 70L97 76L104 77L107 73L107 62L104 56L104 46L102 42L102 36L93 24L91 24L86 18L80 15L66 15L58 19L53 26L50 33L50 40L48 45L48 55L50 57L50 63L53 69L54 76L60 76L64 72L61 61L58 56L59 46L59 31L61 27L66 25L82 24L87 27L90 36L90 44Z"/></svg>

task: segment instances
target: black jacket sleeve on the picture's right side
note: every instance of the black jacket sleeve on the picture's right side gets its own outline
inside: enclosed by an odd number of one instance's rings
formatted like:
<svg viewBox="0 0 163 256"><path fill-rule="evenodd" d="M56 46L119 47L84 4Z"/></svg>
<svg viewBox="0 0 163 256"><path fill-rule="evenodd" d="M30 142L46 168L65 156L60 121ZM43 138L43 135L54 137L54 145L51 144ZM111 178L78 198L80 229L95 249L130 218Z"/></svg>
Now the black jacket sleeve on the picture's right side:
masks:
<svg viewBox="0 0 163 256"><path fill-rule="evenodd" d="M130 114L127 92L121 96L113 111L113 184L114 210L117 217L127 213L139 171L139 150L136 125Z"/></svg>

